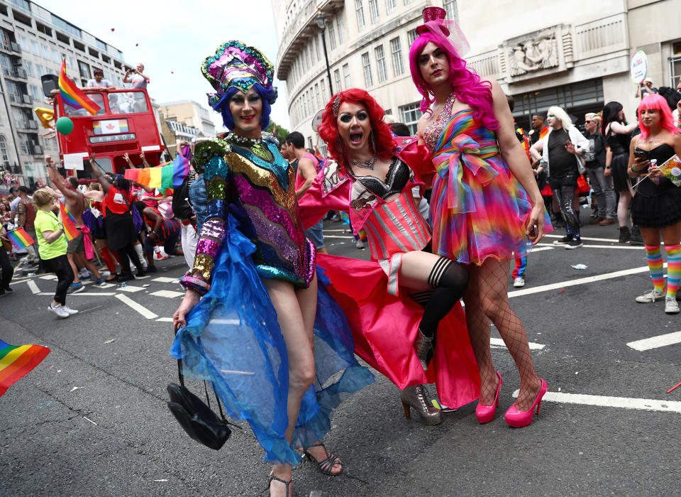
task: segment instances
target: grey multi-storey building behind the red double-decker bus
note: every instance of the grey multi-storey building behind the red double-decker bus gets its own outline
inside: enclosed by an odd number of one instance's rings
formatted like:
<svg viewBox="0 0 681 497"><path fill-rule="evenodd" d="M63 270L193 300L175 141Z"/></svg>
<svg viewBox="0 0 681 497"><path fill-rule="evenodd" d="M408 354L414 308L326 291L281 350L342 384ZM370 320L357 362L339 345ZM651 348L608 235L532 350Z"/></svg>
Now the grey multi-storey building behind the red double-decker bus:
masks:
<svg viewBox="0 0 681 497"><path fill-rule="evenodd" d="M45 177L43 155L57 155L56 139L33 112L45 104L40 77L59 75L62 60L79 86L92 79L94 69L122 87L126 65L121 50L28 0L0 1L0 168L27 185Z"/></svg>

